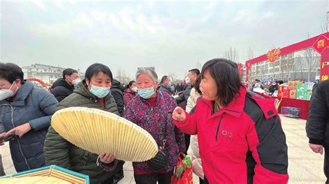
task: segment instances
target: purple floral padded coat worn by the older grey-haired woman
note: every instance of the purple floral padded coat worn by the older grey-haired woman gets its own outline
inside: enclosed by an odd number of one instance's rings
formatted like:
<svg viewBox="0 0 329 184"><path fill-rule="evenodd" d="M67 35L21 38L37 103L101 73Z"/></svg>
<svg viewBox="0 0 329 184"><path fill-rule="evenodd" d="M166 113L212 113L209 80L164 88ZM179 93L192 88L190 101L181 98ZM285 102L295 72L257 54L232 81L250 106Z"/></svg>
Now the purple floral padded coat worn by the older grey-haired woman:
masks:
<svg viewBox="0 0 329 184"><path fill-rule="evenodd" d="M184 134L174 125L172 119L172 112L177 106L176 101L167 93L161 91L157 91L157 93L158 99L155 107L152 107L140 95L130 100L124 111L124 118L148 131L158 145L162 145L167 122L167 144L165 149L169 161L167 172L170 172L176 166L178 154L185 150ZM147 161L133 163L133 166L138 169L150 170Z"/></svg>

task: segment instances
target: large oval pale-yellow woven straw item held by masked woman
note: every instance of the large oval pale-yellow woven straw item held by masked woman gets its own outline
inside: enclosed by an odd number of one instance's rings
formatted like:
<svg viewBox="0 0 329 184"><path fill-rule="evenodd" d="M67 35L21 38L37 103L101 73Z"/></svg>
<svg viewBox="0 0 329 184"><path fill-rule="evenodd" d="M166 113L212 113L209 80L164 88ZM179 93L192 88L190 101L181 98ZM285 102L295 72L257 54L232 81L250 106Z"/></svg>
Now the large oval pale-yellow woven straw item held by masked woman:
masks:
<svg viewBox="0 0 329 184"><path fill-rule="evenodd" d="M107 111L69 107L53 114L51 126L67 141L94 154L111 153L119 160L142 162L158 153L147 131Z"/></svg>

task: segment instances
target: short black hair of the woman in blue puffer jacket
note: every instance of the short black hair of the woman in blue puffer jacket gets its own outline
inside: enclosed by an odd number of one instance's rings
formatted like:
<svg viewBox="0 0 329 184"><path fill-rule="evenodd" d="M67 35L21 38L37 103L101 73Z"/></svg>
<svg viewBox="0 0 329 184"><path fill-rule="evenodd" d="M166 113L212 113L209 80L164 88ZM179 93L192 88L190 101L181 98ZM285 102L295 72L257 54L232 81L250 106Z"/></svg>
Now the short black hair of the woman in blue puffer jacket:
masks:
<svg viewBox="0 0 329 184"><path fill-rule="evenodd" d="M10 83L19 79L21 84L24 84L24 73L17 64L0 62L0 79L8 80Z"/></svg>

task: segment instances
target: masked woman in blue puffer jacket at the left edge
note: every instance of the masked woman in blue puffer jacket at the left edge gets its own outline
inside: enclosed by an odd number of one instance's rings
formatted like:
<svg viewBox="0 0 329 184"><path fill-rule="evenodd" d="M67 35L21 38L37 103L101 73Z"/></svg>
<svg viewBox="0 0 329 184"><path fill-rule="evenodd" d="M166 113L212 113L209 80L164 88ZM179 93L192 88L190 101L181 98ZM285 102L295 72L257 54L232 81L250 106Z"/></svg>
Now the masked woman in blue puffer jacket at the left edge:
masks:
<svg viewBox="0 0 329 184"><path fill-rule="evenodd" d="M0 142L15 134L9 146L17 172L44 166L44 139L58 104L51 93L23 77L16 64L0 63Z"/></svg>

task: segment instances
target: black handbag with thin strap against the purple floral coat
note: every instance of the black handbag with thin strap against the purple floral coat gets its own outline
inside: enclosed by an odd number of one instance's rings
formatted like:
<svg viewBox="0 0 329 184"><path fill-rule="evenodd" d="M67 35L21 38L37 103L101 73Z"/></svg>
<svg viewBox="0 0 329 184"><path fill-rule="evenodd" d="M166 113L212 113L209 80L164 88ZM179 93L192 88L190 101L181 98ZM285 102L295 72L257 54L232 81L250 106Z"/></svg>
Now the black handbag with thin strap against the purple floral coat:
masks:
<svg viewBox="0 0 329 184"><path fill-rule="evenodd" d="M149 160L149 166L153 172L159 172L162 169L166 169L168 167L168 158L167 153L165 151L165 145L167 143L167 118L166 118L166 126L165 126L165 137L162 141L162 146L159 147L158 154L155 155L154 158Z"/></svg>

